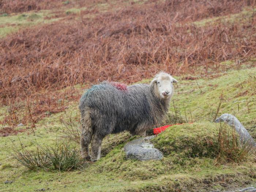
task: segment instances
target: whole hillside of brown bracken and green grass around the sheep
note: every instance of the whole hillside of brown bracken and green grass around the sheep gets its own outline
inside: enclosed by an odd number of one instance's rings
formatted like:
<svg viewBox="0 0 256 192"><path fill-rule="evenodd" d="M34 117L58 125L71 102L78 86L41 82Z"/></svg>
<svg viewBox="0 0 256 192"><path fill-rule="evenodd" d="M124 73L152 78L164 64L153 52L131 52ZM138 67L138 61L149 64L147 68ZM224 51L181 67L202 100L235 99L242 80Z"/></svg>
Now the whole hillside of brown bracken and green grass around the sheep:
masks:
<svg viewBox="0 0 256 192"><path fill-rule="evenodd" d="M233 114L256 139L255 18L246 0L0 0L0 192L256 187L255 154L212 123ZM159 71L178 80L163 125L184 123L152 140L162 160L126 159L124 145L138 138L128 132L107 136L102 158L74 170L15 159L15 147L68 142L80 163L82 93L102 80L150 83Z"/></svg>

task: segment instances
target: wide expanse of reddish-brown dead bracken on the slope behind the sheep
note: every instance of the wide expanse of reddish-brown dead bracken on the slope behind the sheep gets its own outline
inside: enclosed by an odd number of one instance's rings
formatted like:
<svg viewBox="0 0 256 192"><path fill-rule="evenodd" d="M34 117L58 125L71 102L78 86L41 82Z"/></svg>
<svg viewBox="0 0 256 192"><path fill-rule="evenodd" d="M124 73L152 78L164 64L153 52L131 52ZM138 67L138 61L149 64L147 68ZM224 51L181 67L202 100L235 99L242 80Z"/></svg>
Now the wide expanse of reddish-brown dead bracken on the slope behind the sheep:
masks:
<svg viewBox="0 0 256 192"><path fill-rule="evenodd" d="M0 3L2 11L16 1L6 2ZM29 2L48 6L47 0ZM35 123L63 111L63 95L53 97L53 93L78 83L132 83L159 70L189 76L198 67L202 67L199 73L207 74L208 68L220 70L221 61L239 59L242 63L255 57L254 5L255 1L247 0L147 1L143 6L133 3L101 14L97 9L82 11L72 22L67 17L0 39L0 98L2 105L10 106L1 123ZM244 9L248 15L243 20L193 24ZM20 101L23 104L16 104Z"/></svg>

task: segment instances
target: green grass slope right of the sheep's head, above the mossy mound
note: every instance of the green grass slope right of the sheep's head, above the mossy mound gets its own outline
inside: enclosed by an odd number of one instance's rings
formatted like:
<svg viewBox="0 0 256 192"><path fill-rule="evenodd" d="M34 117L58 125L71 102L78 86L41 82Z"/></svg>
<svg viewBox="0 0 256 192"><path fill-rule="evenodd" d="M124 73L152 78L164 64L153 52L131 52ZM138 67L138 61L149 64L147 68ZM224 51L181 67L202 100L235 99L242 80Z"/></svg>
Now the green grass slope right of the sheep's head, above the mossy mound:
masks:
<svg viewBox="0 0 256 192"><path fill-rule="evenodd" d="M250 129L255 122L253 114L256 113L255 76L256 68L251 68L225 72L217 78L180 80L173 97L174 105L181 111L182 116L185 116L184 108L187 109L186 116L189 122L205 121L209 120L210 110L214 111L218 108L222 95L223 101L219 108L219 114L234 114L246 128ZM203 93L198 88L196 81L201 86ZM175 112L173 106L170 107L170 110ZM255 130L250 133L253 137L256 136Z"/></svg>

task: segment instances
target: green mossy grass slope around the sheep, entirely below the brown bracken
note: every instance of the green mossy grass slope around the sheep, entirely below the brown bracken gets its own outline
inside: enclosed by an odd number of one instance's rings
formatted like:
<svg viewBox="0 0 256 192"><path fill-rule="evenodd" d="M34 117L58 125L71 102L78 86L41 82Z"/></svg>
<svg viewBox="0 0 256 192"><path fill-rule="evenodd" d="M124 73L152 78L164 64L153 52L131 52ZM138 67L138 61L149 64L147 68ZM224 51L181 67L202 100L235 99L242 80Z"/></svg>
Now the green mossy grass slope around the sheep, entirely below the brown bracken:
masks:
<svg viewBox="0 0 256 192"><path fill-rule="evenodd" d="M174 105L183 117L185 108L188 121L197 123L173 126L154 140L165 154L161 161L127 160L123 146L136 137L124 132L108 136L103 141L103 157L86 165L84 170L29 171L10 155L12 142L18 146L20 139L27 150L34 150L33 141L52 145L56 138L62 139L59 118L65 118L65 114L52 114L36 124L35 136L28 130L18 136L0 138L0 191L192 191L198 188L209 191L222 189L228 183L236 183L236 186L256 182L255 160L215 165L214 151L205 145L207 140L216 143L218 139L219 124L210 123L205 110L215 110L221 94L224 99L220 114L235 113L255 137L255 76L256 68L229 71L212 79L181 80L177 77L180 81L173 96ZM76 110L77 103L70 103L67 114L72 113L74 121L78 121ZM172 112L173 104L170 105ZM5 184L7 180L13 182Z"/></svg>

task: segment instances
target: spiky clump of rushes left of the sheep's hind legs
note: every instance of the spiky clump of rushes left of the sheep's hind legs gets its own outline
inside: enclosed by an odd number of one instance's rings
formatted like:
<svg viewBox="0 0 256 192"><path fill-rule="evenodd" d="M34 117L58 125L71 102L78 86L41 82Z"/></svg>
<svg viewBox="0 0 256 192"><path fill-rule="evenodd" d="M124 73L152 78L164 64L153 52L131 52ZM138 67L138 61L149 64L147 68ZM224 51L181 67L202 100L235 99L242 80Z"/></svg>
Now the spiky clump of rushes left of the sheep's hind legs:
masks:
<svg viewBox="0 0 256 192"><path fill-rule="evenodd" d="M71 142L56 142L54 146L35 144L35 151L26 150L21 142L20 149L14 144L11 154L30 170L69 171L83 168L84 161L80 157L80 151L72 146Z"/></svg>

